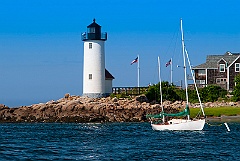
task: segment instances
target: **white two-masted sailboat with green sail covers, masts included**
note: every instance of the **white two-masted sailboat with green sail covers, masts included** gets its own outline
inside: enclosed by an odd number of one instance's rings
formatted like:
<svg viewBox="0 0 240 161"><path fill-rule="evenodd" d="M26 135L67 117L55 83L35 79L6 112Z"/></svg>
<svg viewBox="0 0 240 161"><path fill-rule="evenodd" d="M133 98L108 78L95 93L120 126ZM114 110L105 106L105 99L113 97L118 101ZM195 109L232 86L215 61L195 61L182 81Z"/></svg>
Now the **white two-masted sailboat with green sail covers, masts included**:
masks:
<svg viewBox="0 0 240 161"><path fill-rule="evenodd" d="M182 55L183 55L183 62L184 62L184 80L185 80L185 92L186 92L186 107L183 111L178 113L166 113L164 112L163 103L162 103L162 90L161 90L161 75L160 75L160 59L158 57L158 66L159 66L159 81L160 81L160 97L161 97L161 108L162 112L156 115L147 115L147 118L151 120L160 119L161 121L151 121L151 126L153 130L189 130L189 131L197 131L202 130L205 125L205 113L202 106L202 102L199 96L198 88L196 86L196 81L193 75L193 71L191 69L190 60L188 57L188 52L185 48L184 44L184 35L183 35L183 27L182 27L182 19L180 21L181 26L181 41L182 41ZM193 82L195 85L195 90L197 92L198 100L200 103L201 111L203 114L203 118L200 119L190 119L190 109L189 109L189 102L188 102L188 83L187 83L187 69L186 69L186 57L188 60L188 64L190 67L190 71L192 74ZM172 118L166 120L166 117ZM185 117L184 119L176 118L176 117Z"/></svg>

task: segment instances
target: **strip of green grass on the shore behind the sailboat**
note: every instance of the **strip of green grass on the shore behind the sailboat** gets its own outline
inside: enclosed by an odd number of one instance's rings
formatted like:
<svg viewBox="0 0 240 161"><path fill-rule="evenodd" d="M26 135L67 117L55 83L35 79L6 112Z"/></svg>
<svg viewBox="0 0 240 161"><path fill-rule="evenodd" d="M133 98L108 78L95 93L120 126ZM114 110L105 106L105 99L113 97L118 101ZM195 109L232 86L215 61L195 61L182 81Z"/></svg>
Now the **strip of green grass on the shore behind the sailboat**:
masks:
<svg viewBox="0 0 240 161"><path fill-rule="evenodd" d="M190 108L190 116L195 117L200 108ZM204 108L206 116L209 117L220 117L220 116L236 116L240 115L240 107L214 107L214 108Z"/></svg>

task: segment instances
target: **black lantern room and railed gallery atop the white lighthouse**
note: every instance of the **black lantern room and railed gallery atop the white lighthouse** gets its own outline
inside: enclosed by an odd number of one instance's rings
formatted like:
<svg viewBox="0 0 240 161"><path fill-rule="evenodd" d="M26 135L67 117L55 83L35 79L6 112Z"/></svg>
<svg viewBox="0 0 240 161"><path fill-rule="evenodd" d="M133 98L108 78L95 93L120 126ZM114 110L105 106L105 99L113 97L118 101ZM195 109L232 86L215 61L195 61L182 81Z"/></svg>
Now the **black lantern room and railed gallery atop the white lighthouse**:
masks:
<svg viewBox="0 0 240 161"><path fill-rule="evenodd" d="M96 20L93 19L93 23L87 26L87 33L82 33L82 40L107 40L107 33L101 33L101 26L98 25Z"/></svg>

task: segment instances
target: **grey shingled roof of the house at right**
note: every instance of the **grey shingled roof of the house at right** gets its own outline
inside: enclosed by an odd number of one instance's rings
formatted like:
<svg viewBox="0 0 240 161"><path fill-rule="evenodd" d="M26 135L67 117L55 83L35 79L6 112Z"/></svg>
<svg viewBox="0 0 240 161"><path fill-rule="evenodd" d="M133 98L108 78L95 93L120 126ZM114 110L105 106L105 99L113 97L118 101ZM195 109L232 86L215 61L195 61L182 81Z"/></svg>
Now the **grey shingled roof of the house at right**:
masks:
<svg viewBox="0 0 240 161"><path fill-rule="evenodd" d="M206 62L193 67L193 69L206 69L206 68L218 68L218 62L224 60L227 66L230 65L240 53L226 52L224 55L208 55Z"/></svg>

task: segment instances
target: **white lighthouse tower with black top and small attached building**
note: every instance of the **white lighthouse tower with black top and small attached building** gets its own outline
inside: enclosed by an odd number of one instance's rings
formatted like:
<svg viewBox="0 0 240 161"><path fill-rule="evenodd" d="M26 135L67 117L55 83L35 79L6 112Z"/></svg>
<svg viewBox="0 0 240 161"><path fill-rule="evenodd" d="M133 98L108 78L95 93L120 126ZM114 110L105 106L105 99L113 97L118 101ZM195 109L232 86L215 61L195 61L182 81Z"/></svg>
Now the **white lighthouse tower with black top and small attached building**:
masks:
<svg viewBox="0 0 240 161"><path fill-rule="evenodd" d="M107 33L101 33L101 26L93 20L82 34L84 41L83 96L106 97L112 93L114 77L105 69L105 41Z"/></svg>

